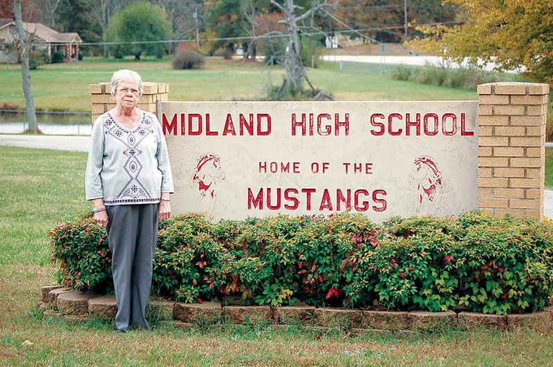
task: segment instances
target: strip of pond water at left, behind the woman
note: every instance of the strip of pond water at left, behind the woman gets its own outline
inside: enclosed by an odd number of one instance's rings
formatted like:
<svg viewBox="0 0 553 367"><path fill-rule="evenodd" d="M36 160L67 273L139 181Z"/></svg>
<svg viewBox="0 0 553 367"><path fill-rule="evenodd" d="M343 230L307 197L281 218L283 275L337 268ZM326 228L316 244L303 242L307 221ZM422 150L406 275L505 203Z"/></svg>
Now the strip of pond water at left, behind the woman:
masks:
<svg viewBox="0 0 553 367"><path fill-rule="evenodd" d="M23 133L28 127L24 111L0 110L0 133ZM91 135L91 114L87 112L37 112L37 124L47 135Z"/></svg>

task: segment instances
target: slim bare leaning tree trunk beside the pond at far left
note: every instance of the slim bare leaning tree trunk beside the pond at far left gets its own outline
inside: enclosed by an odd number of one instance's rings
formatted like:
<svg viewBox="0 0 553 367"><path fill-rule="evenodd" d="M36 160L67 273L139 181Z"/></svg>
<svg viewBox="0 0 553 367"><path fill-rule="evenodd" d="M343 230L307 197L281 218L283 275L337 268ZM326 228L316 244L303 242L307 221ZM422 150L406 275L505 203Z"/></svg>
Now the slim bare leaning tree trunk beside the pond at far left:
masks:
<svg viewBox="0 0 553 367"><path fill-rule="evenodd" d="M23 93L25 95L25 106L27 109L27 119L29 126L27 131L39 133L37 125L37 114L35 112L35 101L32 99L32 91L30 88L30 73L29 73L29 53L31 48L30 40L27 40L25 29L23 28L23 19L21 19L21 0L13 2L13 17L15 28L17 28L17 50L19 51L19 59L21 60L21 74L23 76Z"/></svg>

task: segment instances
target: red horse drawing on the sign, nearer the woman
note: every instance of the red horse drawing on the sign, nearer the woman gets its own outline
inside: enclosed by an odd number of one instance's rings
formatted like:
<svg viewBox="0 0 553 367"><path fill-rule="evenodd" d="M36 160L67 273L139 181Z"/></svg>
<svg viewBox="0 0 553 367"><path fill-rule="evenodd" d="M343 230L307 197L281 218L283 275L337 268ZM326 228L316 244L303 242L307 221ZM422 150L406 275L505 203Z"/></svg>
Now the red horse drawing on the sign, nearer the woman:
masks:
<svg viewBox="0 0 553 367"><path fill-rule="evenodd" d="M196 187L200 191L196 202L203 200L205 196L211 196L212 200L215 200L215 186L217 182L225 180L225 177L219 156L214 153L205 153L200 156L190 179L190 187Z"/></svg>

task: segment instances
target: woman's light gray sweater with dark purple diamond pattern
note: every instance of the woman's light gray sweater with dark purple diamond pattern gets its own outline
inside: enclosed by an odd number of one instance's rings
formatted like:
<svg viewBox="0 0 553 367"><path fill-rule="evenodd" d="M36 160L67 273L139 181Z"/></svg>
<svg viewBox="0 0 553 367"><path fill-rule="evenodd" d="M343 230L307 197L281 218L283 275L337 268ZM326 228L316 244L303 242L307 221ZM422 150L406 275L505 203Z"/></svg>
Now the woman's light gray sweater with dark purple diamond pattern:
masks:
<svg viewBox="0 0 553 367"><path fill-rule="evenodd" d="M86 200L104 205L155 204L162 192L174 192L167 144L158 118L140 111L134 129L111 113L94 122L86 163Z"/></svg>

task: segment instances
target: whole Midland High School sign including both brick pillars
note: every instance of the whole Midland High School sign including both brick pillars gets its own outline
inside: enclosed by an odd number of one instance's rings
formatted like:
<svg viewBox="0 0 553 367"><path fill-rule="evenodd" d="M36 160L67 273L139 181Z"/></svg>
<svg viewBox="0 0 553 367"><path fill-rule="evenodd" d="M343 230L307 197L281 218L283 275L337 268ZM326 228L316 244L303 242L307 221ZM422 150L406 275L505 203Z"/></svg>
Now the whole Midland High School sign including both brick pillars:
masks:
<svg viewBox="0 0 553 367"><path fill-rule="evenodd" d="M89 86L92 120L113 107ZM353 211L381 221L485 209L543 218L549 86L491 83L478 101L167 102L144 83L169 147L174 214L214 220Z"/></svg>

